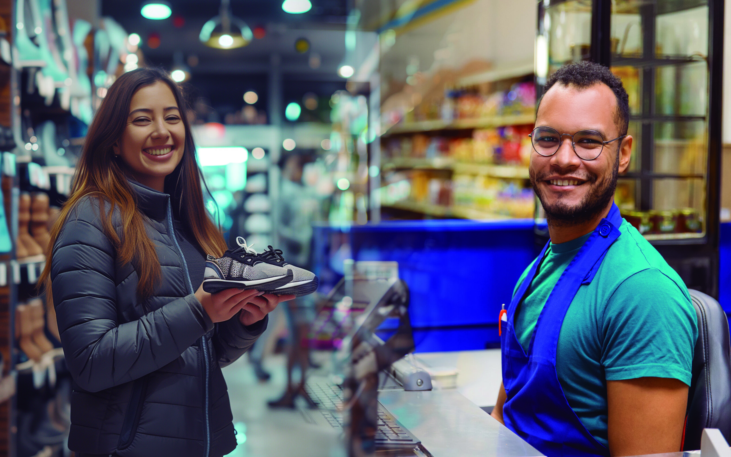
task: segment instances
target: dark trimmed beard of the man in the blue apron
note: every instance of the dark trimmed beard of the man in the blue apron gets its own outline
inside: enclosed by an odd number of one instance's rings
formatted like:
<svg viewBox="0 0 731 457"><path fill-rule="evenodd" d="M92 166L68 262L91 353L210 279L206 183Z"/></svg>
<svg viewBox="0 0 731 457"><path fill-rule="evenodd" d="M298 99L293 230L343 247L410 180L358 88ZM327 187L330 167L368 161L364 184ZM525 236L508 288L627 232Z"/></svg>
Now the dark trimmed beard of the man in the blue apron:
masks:
<svg viewBox="0 0 731 457"><path fill-rule="evenodd" d="M548 177L548 173L541 176L534 176L531 172L531 185L533 191L543 205L546 219L553 226L573 226L594 220L597 215L607 209L607 205L614 197L614 191L617 188L617 176L619 174L619 154L615 161L611 177L605 177L599 185L596 183L599 178L596 175L589 175L588 179L582 185L589 185L591 188L579 204L569 206L561 198L553 205L546 204L545 196L539 191L537 183L540 183Z"/></svg>

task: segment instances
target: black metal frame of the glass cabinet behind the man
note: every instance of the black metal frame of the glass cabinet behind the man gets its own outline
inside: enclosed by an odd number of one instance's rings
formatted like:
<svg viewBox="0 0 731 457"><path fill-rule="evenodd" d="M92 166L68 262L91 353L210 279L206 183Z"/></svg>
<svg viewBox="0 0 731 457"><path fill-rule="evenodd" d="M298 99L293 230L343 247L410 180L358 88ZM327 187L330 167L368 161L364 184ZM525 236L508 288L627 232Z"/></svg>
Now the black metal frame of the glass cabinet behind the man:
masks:
<svg viewBox="0 0 731 457"><path fill-rule="evenodd" d="M546 7L569 0L545 0L537 2L539 35L545 35L543 23ZM626 57L611 52L611 0L586 0L591 4L591 43L588 58L605 66L633 66L640 72L640 112L632 115L630 121L639 123L640 153L639 170L628 172L621 179L632 179L639 185L637 206L639 210L650 210L653 201L653 182L658 178L698 179L705 178L705 234L702 237L659 237L651 242L667 262L681 275L689 288L711 296L719 293L719 210L721 190L721 85L723 71L724 1L723 0L646 0L630 6L638 8L642 33L642 55ZM615 8L621 12L624 5ZM669 55L656 57L656 18L658 15L683 11L694 7L708 6L708 58L696 56ZM699 61L708 64L707 115L667 116L655 112L655 69L660 66L694 64ZM537 80L537 91L542 85ZM705 120L708 128L708 154L705 174L670 174L654 172L654 131L656 123L683 120ZM537 245L540 245L545 231L536 229Z"/></svg>

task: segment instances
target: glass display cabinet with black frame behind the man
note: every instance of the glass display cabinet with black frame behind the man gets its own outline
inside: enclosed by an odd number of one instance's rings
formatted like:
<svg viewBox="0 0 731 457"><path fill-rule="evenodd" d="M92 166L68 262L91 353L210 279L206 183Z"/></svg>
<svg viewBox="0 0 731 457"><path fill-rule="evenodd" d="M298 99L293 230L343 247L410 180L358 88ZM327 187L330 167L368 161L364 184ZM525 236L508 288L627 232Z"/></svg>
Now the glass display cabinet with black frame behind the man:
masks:
<svg viewBox="0 0 731 457"><path fill-rule="evenodd" d="M621 77L635 140L616 203L689 287L711 294L718 271L723 3L537 5L538 93L550 74L572 61L596 61Z"/></svg>

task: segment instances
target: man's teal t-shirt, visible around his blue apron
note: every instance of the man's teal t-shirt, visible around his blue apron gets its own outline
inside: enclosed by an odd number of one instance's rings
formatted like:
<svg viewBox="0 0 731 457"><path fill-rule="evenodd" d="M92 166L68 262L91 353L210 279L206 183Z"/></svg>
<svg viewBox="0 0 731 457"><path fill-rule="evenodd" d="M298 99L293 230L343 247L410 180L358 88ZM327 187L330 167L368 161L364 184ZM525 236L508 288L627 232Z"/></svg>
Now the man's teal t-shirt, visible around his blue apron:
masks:
<svg viewBox="0 0 731 457"><path fill-rule="evenodd" d="M675 270L626 220L619 231L594 280L569 305L556 348L556 373L569 405L607 447L607 380L672 377L690 385L698 336L695 310ZM534 260L542 262L515 314L526 352L550 291L587 238L551 244Z"/></svg>

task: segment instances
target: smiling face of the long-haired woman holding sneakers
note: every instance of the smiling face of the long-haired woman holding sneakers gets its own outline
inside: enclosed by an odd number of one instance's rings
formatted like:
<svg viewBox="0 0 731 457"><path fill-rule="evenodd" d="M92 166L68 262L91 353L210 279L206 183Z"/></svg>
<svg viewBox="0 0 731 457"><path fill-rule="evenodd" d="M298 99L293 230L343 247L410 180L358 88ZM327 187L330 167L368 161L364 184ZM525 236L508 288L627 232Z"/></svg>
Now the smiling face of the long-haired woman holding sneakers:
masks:
<svg viewBox="0 0 731 457"><path fill-rule="evenodd" d="M135 92L114 153L124 172L149 188L163 191L165 177L183 158L185 126L173 91L162 81Z"/></svg>

